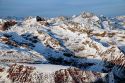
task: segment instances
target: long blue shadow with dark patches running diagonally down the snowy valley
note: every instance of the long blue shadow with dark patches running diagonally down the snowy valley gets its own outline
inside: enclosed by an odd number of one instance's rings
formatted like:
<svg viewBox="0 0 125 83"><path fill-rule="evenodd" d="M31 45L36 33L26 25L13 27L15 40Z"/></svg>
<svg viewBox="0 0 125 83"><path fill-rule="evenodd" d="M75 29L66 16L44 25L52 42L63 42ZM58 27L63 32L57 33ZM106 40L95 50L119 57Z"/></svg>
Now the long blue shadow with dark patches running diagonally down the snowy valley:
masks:
<svg viewBox="0 0 125 83"><path fill-rule="evenodd" d="M12 34L12 33L13 33L13 35L19 36L15 32L6 33L5 35L10 36L9 34ZM11 39L12 41L15 41L13 38L13 35L11 35L9 37L9 39ZM15 41L15 42L17 42L19 45L22 45L24 43L29 45L30 49L35 50L38 53L40 53L41 55L43 55L51 64L73 66L73 67L77 67L77 68L80 68L81 70L86 70L86 71L95 71L95 72L102 72L102 73L113 72L116 83L125 82L124 64L120 65L118 62L119 60L117 60L117 62L115 62L115 63L112 63L112 62L103 61L103 60L76 57L76 56L74 56L74 53L72 51L70 51L68 48L66 48L66 46L64 46L63 40L55 37L54 33L52 33L52 32L49 33L49 35L52 38L61 42L61 45L65 49L64 50L65 53L62 53L61 55L59 55L61 53L61 51L57 51L57 50L54 50L53 48L46 47L42 42L41 43L39 42L40 39L38 39L36 36L33 36L30 33L25 33L25 34L21 35L21 37L25 40L25 42L24 41L23 42ZM36 45L37 43L39 43L39 45ZM40 50L34 49L36 46L39 46L40 48L39 47L38 48ZM43 49L43 50L41 50L41 49ZM54 55L54 53L56 54L56 56ZM124 60L122 60L121 62L123 62L123 61ZM36 61L36 63L34 62L34 64L40 64L40 63L41 63L40 61ZM103 68L101 68L101 67L103 67ZM98 68L98 69L96 70L94 68ZM116 73L116 72L118 72L118 73ZM104 77L104 78L107 78L107 77ZM98 80L95 83L100 83L100 80Z"/></svg>

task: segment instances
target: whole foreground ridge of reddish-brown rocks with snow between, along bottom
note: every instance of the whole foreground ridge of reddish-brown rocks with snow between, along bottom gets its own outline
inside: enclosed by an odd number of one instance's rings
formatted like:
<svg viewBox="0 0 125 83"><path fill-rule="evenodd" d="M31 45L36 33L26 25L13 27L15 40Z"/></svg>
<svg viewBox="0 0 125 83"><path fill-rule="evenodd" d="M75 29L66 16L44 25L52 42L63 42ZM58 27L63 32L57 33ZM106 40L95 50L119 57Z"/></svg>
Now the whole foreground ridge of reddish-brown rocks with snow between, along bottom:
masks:
<svg viewBox="0 0 125 83"><path fill-rule="evenodd" d="M44 64L45 65L45 64ZM65 68L53 72L39 71L42 67L29 65L12 64L8 69L3 69L1 81L5 83L88 83L88 82L108 82L106 73L82 71L78 68ZM48 65L49 66L49 65ZM54 66L59 67L59 66ZM48 67L49 68L49 67ZM7 71L6 71L7 70Z"/></svg>

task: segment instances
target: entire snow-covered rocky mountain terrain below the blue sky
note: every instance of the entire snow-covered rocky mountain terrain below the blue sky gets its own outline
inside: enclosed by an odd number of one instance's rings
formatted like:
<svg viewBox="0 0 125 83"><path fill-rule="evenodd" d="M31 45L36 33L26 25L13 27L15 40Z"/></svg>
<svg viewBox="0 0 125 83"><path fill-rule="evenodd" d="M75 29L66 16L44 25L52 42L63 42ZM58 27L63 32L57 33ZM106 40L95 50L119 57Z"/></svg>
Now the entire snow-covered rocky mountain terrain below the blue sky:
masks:
<svg viewBox="0 0 125 83"><path fill-rule="evenodd" d="M0 83L124 83L125 16L0 19Z"/></svg>

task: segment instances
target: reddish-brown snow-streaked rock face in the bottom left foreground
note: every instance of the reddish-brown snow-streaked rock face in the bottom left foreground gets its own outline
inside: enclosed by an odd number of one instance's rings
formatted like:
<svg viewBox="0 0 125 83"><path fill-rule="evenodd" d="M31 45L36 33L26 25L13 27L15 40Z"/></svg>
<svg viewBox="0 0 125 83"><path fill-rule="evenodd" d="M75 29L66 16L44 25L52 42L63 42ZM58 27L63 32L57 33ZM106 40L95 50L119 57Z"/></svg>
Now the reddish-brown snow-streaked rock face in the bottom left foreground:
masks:
<svg viewBox="0 0 125 83"><path fill-rule="evenodd" d="M13 64L10 66L8 70L8 78L13 82L19 83L31 83L30 74L33 72L35 68L30 66L23 66Z"/></svg>

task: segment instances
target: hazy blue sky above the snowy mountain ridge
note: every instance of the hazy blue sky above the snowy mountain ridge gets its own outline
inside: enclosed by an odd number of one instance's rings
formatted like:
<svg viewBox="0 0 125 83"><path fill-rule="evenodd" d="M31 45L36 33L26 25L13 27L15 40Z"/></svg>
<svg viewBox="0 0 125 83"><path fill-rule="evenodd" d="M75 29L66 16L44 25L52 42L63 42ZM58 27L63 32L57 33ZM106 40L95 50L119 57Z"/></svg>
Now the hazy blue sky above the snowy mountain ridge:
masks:
<svg viewBox="0 0 125 83"><path fill-rule="evenodd" d="M125 14L125 0L0 0L0 17L71 16L87 11L97 15Z"/></svg>

